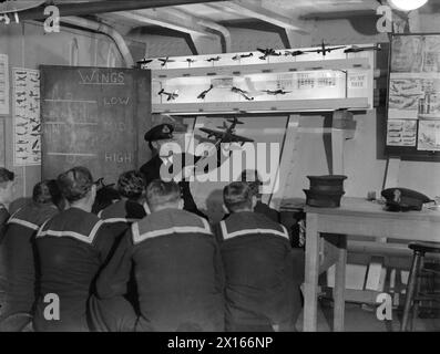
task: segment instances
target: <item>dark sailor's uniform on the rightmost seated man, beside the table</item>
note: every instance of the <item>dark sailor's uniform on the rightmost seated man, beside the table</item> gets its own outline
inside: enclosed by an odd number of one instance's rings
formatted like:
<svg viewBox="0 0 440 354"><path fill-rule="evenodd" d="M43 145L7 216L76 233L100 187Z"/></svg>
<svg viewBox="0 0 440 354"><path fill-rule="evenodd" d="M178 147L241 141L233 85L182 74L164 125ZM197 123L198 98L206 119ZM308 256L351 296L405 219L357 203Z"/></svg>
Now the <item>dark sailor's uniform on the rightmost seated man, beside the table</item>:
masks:
<svg viewBox="0 0 440 354"><path fill-rule="evenodd" d="M294 331L300 310L286 228L260 214L216 226L226 277L226 331Z"/></svg>

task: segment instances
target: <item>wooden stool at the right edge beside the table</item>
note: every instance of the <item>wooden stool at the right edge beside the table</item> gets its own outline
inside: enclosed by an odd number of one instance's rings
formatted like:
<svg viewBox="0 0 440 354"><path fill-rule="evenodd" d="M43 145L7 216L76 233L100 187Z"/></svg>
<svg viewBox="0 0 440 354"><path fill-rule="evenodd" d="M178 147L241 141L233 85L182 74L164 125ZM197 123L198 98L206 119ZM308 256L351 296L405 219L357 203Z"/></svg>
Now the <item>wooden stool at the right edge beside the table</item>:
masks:
<svg viewBox="0 0 440 354"><path fill-rule="evenodd" d="M440 296L436 294L420 293L420 275L421 272L430 272L440 274L440 264L423 264L424 253L440 253L440 243L437 242L411 242L408 246L413 250L411 270L408 278L407 293L405 299L403 319L401 331L407 331L408 322L411 320L411 331L413 317L417 314L419 302L421 300L440 301ZM412 311L411 311L412 310ZM411 319L410 319L411 313Z"/></svg>

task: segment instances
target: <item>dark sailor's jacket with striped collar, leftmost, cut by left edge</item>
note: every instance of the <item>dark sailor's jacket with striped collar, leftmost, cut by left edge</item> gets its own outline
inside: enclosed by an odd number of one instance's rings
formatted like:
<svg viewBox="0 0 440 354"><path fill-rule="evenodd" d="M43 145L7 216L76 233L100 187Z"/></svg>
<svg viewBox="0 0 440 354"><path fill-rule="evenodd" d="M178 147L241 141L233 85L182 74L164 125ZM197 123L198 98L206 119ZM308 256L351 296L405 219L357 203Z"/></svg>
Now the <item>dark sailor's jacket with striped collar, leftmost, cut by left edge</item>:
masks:
<svg viewBox="0 0 440 354"><path fill-rule="evenodd" d="M7 289L1 317L32 312L37 293L34 237L40 226L58 212L53 205L31 202L8 220L2 242Z"/></svg>

